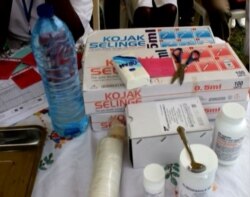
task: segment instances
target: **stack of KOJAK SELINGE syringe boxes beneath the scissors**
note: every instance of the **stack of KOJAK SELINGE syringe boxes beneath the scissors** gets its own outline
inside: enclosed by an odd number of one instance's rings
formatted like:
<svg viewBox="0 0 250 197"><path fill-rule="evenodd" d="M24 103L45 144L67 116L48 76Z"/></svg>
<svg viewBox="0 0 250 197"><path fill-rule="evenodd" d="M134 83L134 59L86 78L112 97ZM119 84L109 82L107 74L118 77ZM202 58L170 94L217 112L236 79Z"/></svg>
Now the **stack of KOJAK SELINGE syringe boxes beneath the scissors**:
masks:
<svg viewBox="0 0 250 197"><path fill-rule="evenodd" d="M178 47L183 63L193 50L201 54L186 68L182 85L171 84ZM112 62L117 55L137 57L150 85L127 90ZM215 43L208 26L96 31L87 40L83 65L85 110L94 131L107 129L110 117L125 120L125 106L132 103L198 96L209 120L226 102L247 106L249 73L228 43Z"/></svg>

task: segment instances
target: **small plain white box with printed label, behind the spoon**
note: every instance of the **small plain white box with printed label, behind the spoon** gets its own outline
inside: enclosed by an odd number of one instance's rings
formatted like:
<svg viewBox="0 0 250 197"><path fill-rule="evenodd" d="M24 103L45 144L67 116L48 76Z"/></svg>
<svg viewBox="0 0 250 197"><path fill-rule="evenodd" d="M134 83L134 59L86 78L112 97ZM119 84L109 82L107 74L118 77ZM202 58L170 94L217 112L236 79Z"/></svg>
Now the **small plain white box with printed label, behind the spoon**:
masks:
<svg viewBox="0 0 250 197"><path fill-rule="evenodd" d="M178 162L184 148L177 127L189 143L211 146L213 130L198 97L131 104L126 107L129 152L134 168Z"/></svg>

